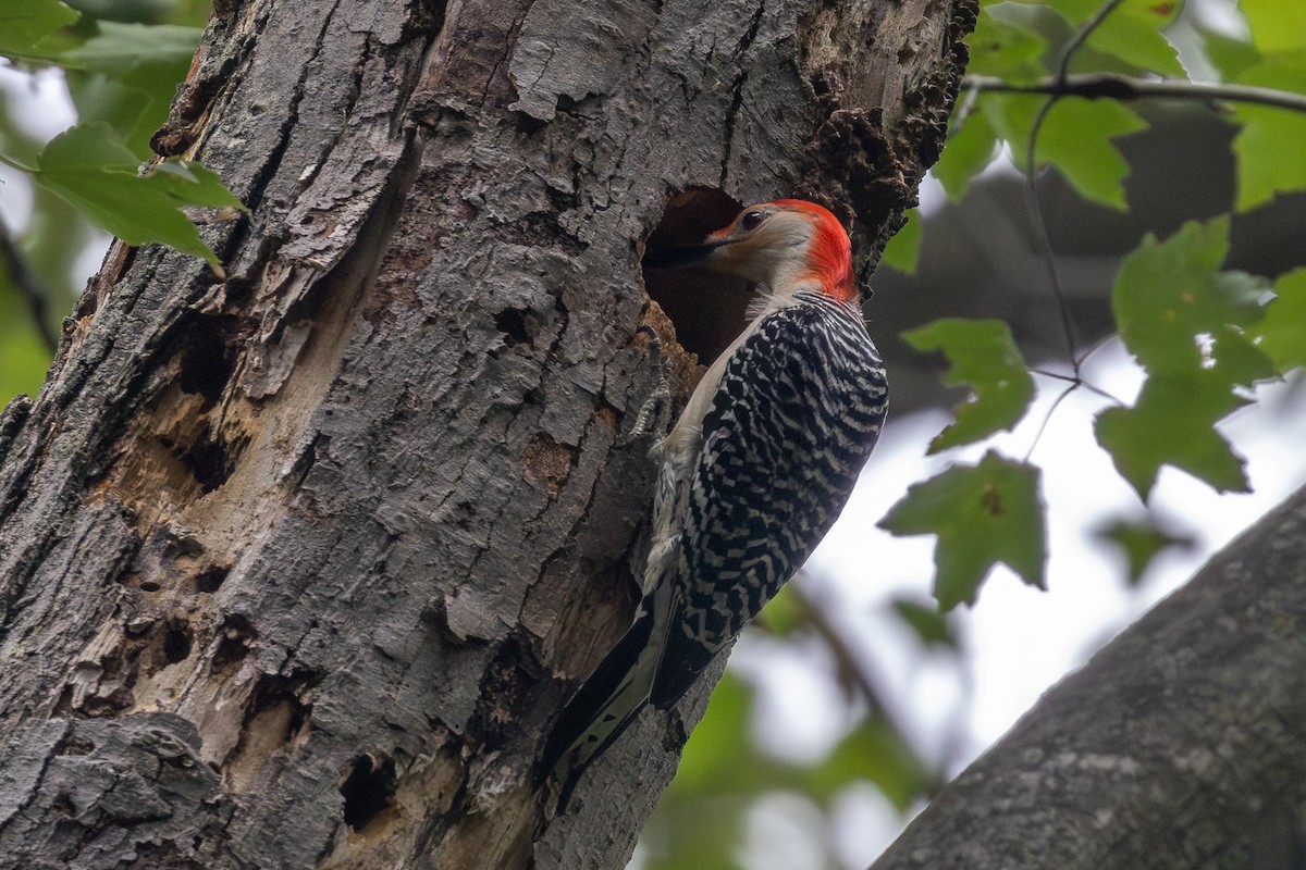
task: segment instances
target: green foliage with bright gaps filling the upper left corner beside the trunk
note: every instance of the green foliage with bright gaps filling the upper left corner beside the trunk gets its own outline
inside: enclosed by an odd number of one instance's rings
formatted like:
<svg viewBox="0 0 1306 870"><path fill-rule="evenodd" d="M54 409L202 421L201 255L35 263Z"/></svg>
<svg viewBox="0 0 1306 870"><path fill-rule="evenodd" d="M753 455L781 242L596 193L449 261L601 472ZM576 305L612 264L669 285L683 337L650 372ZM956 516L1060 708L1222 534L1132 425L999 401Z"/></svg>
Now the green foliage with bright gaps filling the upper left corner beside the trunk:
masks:
<svg viewBox="0 0 1306 870"><path fill-rule="evenodd" d="M0 239L0 400L35 393L54 337L90 271L95 230L163 241L210 260L183 206L238 209L221 181L184 160L150 160L209 16L192 0L10 0L0 7L5 226ZM24 81L24 77L27 80ZM51 103L67 86L77 123L50 141ZM26 99L25 99L26 97ZM30 181L25 184L24 180Z"/></svg>

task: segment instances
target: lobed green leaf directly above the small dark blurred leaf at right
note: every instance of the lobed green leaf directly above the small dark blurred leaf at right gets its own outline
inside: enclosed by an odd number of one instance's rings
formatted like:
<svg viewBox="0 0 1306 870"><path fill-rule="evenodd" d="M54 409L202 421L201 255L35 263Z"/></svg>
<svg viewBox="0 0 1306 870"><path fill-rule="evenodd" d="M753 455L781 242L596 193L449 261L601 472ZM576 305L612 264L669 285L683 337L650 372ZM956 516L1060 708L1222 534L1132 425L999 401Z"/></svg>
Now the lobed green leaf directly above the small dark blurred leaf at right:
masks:
<svg viewBox="0 0 1306 870"><path fill-rule="evenodd" d="M1097 442L1117 471L1147 501L1161 466L1174 466L1218 492L1251 492L1243 460L1215 424L1247 404L1217 374L1153 376L1132 408L1097 416Z"/></svg>

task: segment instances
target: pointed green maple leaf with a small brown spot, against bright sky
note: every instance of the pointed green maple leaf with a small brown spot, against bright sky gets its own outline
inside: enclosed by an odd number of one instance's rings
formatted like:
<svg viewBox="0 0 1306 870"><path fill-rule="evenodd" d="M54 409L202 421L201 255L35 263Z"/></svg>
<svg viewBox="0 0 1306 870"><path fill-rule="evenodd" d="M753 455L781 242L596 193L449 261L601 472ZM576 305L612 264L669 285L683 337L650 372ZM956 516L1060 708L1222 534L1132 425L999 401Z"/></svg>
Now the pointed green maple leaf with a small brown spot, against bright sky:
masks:
<svg viewBox="0 0 1306 870"><path fill-rule="evenodd" d="M953 466L914 484L880 520L893 535L936 535L934 596L944 610L974 604L1002 562L1045 588L1047 532L1040 471L990 450L978 466Z"/></svg>

